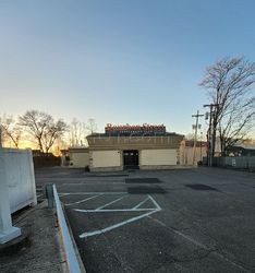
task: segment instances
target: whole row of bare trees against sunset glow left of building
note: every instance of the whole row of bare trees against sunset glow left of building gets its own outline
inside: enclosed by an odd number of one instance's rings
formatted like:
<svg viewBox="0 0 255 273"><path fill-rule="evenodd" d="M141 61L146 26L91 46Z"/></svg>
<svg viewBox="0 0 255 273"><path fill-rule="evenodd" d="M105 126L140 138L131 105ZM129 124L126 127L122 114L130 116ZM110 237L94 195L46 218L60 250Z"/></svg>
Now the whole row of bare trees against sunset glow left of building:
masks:
<svg viewBox="0 0 255 273"><path fill-rule="evenodd" d="M71 123L62 119L56 120L51 115L39 110L27 110L20 117L3 115L0 117L2 141L4 146L21 147L26 142L41 153L49 153L58 145L61 149L69 146L83 146L86 135L97 130L95 119L87 122L76 118Z"/></svg>

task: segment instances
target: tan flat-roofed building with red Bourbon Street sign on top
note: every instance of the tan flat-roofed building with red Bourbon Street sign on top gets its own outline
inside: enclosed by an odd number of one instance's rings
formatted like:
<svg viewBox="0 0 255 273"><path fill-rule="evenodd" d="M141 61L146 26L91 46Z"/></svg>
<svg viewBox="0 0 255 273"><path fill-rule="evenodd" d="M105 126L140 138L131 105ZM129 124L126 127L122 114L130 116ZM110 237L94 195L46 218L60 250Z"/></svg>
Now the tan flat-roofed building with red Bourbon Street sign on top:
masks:
<svg viewBox="0 0 255 273"><path fill-rule="evenodd" d="M92 171L171 168L180 164L182 139L167 132L165 126L107 124L105 133L87 136L88 166Z"/></svg>

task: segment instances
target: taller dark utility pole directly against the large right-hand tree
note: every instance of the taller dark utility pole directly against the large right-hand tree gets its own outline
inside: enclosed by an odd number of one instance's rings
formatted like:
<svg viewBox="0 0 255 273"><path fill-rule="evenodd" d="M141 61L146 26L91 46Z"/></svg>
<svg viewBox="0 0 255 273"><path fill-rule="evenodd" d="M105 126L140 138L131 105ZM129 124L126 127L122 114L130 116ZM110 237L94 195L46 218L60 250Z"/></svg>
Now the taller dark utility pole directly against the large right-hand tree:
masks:
<svg viewBox="0 0 255 273"><path fill-rule="evenodd" d="M208 152L207 152L207 165L209 167L212 166L212 157L215 151L215 120L212 119L214 107L219 107L219 104L207 104L204 107L210 107L210 118L209 118L209 128L207 132L207 143L208 143Z"/></svg>

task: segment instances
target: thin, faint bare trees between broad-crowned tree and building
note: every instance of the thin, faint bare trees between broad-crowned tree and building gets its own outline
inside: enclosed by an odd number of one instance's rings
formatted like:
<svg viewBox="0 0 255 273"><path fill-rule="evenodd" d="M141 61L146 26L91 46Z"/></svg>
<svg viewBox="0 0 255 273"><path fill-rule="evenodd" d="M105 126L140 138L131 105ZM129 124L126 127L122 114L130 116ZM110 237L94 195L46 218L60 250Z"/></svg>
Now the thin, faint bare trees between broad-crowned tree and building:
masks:
<svg viewBox="0 0 255 273"><path fill-rule="evenodd" d="M71 146L83 146L86 142L86 126L74 118L69 126L69 142Z"/></svg>

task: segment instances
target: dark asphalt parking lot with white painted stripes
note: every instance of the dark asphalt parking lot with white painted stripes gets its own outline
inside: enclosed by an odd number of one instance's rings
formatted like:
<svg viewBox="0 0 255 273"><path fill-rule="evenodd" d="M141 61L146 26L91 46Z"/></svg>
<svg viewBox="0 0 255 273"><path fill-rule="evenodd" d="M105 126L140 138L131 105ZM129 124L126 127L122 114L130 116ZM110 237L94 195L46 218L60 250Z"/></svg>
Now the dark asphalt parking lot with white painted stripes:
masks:
<svg viewBox="0 0 255 273"><path fill-rule="evenodd" d="M255 272L254 173L37 170L37 187L47 182L87 273Z"/></svg>

